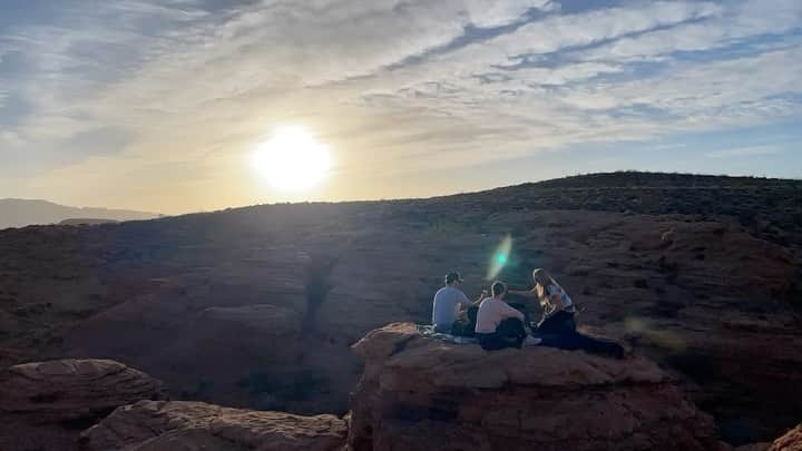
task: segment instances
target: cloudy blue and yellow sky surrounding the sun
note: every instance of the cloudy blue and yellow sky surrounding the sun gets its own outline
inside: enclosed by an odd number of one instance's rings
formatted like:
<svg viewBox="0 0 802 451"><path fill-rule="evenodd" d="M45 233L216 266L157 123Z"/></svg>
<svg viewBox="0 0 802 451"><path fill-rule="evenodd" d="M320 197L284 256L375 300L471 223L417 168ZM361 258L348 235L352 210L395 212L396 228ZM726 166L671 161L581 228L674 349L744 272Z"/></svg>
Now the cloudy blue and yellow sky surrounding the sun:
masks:
<svg viewBox="0 0 802 451"><path fill-rule="evenodd" d="M304 127L322 184L253 153ZM165 214L802 178L802 1L0 0L0 198Z"/></svg>

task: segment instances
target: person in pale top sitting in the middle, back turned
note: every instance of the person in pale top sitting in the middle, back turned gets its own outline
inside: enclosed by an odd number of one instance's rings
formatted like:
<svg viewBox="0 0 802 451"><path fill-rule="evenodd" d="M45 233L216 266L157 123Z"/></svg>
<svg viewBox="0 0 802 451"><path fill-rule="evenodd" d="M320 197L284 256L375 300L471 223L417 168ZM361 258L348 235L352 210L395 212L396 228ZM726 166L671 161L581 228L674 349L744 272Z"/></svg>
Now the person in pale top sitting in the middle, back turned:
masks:
<svg viewBox="0 0 802 451"><path fill-rule="evenodd" d="M507 285L495 282L490 292L492 297L483 300L477 313L476 337L482 349L496 351L505 347L521 347L525 340L527 344L538 344L539 340L527 336L524 313L503 301Z"/></svg>

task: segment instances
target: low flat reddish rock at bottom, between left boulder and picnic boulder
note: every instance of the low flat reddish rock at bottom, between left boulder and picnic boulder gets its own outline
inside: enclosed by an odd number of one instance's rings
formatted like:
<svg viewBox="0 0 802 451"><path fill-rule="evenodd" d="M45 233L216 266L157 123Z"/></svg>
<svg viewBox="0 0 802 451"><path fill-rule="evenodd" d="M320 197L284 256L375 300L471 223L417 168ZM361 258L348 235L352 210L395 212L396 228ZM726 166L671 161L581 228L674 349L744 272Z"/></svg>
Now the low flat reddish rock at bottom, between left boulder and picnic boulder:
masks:
<svg viewBox="0 0 802 451"><path fill-rule="evenodd" d="M222 408L202 402L140 401L117 409L81 434L81 447L101 450L342 449L346 424L334 415L300 416Z"/></svg>

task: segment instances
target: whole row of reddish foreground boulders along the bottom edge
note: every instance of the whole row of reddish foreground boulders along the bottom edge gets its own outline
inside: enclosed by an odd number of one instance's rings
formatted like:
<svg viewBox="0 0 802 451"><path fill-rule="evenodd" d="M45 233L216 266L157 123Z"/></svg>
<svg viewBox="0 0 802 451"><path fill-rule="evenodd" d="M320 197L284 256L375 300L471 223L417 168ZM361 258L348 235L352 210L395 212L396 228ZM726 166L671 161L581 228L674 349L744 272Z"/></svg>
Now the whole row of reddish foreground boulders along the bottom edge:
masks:
<svg viewBox="0 0 802 451"><path fill-rule="evenodd" d="M160 382L113 361L12 366L0 375L0 450L731 450L644 357L486 352L410 323L375 330L354 351L365 371L342 419L160 400ZM744 450L802 449L799 431Z"/></svg>

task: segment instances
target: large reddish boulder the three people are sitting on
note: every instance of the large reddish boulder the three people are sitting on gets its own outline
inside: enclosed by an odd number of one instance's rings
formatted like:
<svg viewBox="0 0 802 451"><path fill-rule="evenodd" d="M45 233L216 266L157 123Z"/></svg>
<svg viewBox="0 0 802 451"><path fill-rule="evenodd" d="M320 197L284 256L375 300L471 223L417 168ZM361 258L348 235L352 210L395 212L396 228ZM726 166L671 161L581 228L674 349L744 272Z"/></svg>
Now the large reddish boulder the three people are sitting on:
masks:
<svg viewBox="0 0 802 451"><path fill-rule="evenodd" d="M654 362L547 347L486 352L397 323L354 345L349 448L710 450L713 420Z"/></svg>

